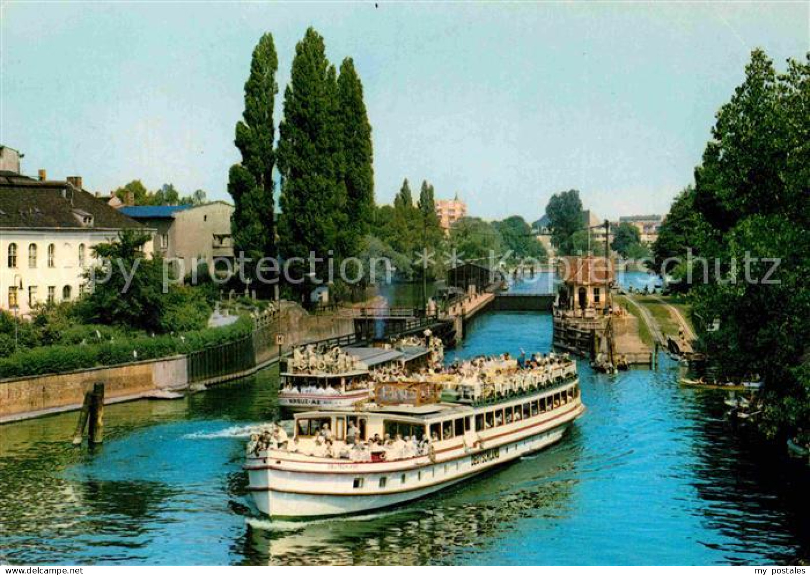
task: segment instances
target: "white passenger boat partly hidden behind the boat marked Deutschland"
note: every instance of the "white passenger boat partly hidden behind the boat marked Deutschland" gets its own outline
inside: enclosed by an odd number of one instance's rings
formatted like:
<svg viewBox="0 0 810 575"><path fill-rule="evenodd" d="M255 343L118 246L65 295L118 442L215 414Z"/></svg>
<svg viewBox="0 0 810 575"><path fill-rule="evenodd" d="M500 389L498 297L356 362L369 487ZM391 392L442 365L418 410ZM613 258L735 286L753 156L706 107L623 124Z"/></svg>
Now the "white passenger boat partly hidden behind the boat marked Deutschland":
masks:
<svg viewBox="0 0 810 575"><path fill-rule="evenodd" d="M352 409L373 393L372 375L390 368L409 373L441 362L441 339L409 338L385 347L296 348L283 367L279 407L289 411Z"/></svg>

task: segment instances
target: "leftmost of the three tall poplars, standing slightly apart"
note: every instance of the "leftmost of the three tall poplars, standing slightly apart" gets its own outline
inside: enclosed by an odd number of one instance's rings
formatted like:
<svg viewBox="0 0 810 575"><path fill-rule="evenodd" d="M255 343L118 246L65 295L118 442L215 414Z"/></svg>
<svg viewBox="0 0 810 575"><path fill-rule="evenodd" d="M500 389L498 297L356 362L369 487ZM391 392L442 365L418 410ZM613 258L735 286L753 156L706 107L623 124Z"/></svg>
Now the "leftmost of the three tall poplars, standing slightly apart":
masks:
<svg viewBox="0 0 810 575"><path fill-rule="evenodd" d="M234 251L244 252L254 263L275 255L273 107L278 92L277 68L273 36L264 34L250 62L250 75L245 83L245 112L236 126L234 144L242 160L233 165L228 174L228 193L234 203Z"/></svg>

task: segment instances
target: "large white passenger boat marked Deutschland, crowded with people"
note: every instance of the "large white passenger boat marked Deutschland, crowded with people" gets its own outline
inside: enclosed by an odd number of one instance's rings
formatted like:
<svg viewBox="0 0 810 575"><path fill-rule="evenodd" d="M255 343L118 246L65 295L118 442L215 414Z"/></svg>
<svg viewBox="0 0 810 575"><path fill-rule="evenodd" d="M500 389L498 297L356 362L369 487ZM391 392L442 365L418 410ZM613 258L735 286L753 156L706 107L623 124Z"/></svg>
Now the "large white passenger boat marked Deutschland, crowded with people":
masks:
<svg viewBox="0 0 810 575"><path fill-rule="evenodd" d="M454 401L442 401L448 390ZM400 505L560 441L584 411L567 358L526 368L482 360L378 382L359 411L307 411L295 415L292 439L252 437L249 492L273 517Z"/></svg>

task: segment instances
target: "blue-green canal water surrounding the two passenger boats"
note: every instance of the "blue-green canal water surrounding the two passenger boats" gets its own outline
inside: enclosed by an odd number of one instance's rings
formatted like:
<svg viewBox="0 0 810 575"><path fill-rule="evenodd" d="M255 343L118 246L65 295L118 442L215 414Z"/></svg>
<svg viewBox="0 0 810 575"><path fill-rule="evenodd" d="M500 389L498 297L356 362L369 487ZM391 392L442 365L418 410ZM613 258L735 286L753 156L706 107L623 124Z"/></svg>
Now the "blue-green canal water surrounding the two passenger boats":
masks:
<svg viewBox="0 0 810 575"><path fill-rule="evenodd" d="M486 313L448 354L548 351L551 317ZM752 564L810 556L808 472L737 439L723 395L676 364L615 377L580 362L588 407L561 443L403 509L271 521L241 471L277 416L270 369L169 402L0 427L0 563ZM776 450L772 450L774 452Z"/></svg>

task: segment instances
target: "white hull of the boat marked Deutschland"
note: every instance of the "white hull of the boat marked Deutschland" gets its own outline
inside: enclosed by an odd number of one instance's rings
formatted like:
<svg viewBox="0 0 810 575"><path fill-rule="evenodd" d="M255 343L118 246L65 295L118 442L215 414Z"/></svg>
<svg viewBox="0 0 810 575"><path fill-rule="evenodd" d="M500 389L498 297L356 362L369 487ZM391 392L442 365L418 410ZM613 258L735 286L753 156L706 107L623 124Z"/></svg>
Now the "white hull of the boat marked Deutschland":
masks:
<svg viewBox="0 0 810 575"><path fill-rule="evenodd" d="M480 447L467 449L459 443L436 462L426 456L377 463L335 460L322 463L321 469L312 466L312 471L284 471L283 460L254 458L246 466L249 490L259 511L273 517L321 517L400 505L560 441L585 411L582 403L566 407L527 428L516 422L511 431L509 426L497 429L498 436L509 436L503 442L488 440L484 432ZM355 487L357 479L363 480L360 488Z"/></svg>

